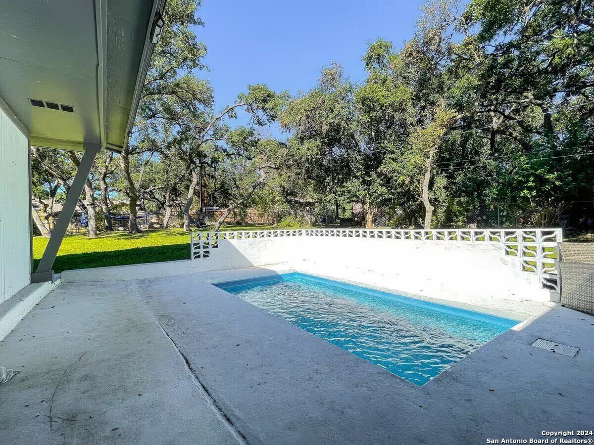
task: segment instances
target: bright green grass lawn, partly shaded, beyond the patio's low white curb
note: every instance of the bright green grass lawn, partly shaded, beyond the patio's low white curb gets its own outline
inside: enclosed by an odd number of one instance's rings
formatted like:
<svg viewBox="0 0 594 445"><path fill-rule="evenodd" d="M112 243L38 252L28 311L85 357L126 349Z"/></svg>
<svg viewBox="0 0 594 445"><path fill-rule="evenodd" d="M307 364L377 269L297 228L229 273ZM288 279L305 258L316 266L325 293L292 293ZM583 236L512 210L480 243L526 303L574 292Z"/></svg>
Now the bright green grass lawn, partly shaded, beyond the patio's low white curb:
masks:
<svg viewBox="0 0 594 445"><path fill-rule="evenodd" d="M268 225L223 227L223 230L263 230ZM35 267L48 239L33 237L33 258ZM55 272L71 269L100 268L125 264L155 263L189 259L189 233L181 228L150 230L137 234L127 232L106 232L96 238L86 235L64 237L58 257L53 263Z"/></svg>

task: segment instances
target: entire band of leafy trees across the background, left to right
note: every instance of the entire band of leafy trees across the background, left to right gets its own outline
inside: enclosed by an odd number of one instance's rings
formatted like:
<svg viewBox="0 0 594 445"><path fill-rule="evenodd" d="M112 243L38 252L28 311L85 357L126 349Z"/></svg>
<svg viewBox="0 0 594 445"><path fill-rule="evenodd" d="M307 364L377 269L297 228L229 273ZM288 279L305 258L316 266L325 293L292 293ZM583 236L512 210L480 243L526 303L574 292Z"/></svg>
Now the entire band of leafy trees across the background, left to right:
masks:
<svg viewBox="0 0 594 445"><path fill-rule="evenodd" d="M328 61L311 90L247 85L220 110L200 77L199 7L168 1L128 148L99 158L82 206L96 193L109 214L127 199L131 231L138 208L162 211L165 227L182 215L186 230L207 208L295 224L357 208L368 227L381 215L429 228L497 204L507 225L594 224L590 2L432 0L409 41L369 43L361 81ZM33 155L34 194L47 201L67 190L75 160L50 171L43 156Z"/></svg>

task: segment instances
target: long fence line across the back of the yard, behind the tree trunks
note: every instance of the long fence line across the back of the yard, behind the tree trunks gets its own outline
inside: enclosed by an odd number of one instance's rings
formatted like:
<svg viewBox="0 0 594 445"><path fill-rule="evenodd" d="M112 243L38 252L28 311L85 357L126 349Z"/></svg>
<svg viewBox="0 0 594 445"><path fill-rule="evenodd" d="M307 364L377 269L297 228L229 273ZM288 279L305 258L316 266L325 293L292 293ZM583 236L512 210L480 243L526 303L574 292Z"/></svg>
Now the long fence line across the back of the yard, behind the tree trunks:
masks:
<svg viewBox="0 0 594 445"><path fill-rule="evenodd" d="M210 209L206 214L191 212L193 218L208 225L215 224L224 214L223 209ZM45 217L45 215L41 215ZM57 220L57 214L46 221L50 230ZM236 209L225 220L225 224L278 225L290 216L308 227L364 227L365 212L360 204L336 205L333 202L308 203L292 211L261 211L257 208ZM116 215L114 230L128 230L128 215ZM377 228L422 228L425 211L422 205L409 209L379 208L372 218ZM81 224L80 212L74 215L69 233L81 233L86 229ZM163 212L147 214L141 212L137 223L141 229L159 228ZM169 227L181 227L184 216L181 212L172 215ZM99 230L105 228L105 219L98 213ZM560 227L576 231L594 232L594 201L573 201L556 205L518 208L508 204L458 203L435 206L431 228L547 228Z"/></svg>

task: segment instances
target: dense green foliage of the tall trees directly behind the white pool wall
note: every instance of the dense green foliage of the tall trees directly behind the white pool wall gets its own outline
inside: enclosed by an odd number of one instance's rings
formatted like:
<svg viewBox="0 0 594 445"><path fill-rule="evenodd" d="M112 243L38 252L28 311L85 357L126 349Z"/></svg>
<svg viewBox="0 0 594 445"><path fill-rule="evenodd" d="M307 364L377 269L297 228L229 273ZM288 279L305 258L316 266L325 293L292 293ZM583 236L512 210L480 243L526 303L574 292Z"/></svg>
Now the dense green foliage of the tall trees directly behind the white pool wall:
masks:
<svg viewBox="0 0 594 445"><path fill-rule="evenodd" d="M381 206L403 225L420 221L428 166L435 225L458 224L484 202L530 212L592 200L592 157L576 156L594 142L592 5L458 8L425 5L402 50L371 43L362 85L334 64L289 103L280 122L294 145L313 149L316 188L368 212Z"/></svg>

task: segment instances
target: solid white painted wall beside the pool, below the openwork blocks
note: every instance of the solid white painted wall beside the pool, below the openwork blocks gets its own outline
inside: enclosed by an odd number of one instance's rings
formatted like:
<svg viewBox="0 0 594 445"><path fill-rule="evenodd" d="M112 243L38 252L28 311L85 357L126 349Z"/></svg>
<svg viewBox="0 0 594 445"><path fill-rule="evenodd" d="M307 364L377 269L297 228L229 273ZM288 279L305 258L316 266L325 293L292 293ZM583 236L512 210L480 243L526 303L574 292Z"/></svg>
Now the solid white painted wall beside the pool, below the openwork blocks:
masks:
<svg viewBox="0 0 594 445"><path fill-rule="evenodd" d="M307 236L222 240L210 258L194 263L200 271L282 264L445 300L550 300L538 276L522 271L498 244Z"/></svg>

